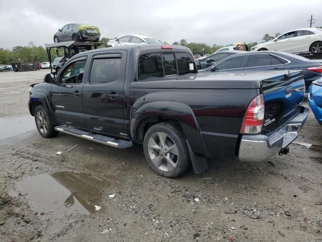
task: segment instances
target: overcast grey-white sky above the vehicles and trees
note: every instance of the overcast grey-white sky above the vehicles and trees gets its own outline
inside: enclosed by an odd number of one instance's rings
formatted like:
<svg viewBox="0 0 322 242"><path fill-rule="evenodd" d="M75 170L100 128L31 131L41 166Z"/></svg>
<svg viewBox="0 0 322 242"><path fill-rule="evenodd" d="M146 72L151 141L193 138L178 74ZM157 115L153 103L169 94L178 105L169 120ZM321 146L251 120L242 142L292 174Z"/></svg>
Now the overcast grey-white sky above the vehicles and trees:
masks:
<svg viewBox="0 0 322 242"><path fill-rule="evenodd" d="M322 0L266 1L8 1L0 0L0 47L53 42L67 23L88 23L101 37L145 34L173 43L229 44L261 42L274 35L309 27L311 14L322 26Z"/></svg>

